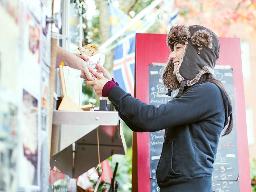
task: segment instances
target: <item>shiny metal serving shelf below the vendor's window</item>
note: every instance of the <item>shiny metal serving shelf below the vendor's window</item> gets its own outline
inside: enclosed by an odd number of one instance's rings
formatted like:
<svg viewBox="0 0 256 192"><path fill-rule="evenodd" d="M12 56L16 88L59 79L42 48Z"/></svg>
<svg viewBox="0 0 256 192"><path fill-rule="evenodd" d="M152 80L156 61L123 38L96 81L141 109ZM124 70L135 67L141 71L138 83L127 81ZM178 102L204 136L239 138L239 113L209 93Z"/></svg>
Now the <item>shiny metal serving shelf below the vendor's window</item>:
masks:
<svg viewBox="0 0 256 192"><path fill-rule="evenodd" d="M53 111L50 166L76 178L113 154L125 154L118 112Z"/></svg>

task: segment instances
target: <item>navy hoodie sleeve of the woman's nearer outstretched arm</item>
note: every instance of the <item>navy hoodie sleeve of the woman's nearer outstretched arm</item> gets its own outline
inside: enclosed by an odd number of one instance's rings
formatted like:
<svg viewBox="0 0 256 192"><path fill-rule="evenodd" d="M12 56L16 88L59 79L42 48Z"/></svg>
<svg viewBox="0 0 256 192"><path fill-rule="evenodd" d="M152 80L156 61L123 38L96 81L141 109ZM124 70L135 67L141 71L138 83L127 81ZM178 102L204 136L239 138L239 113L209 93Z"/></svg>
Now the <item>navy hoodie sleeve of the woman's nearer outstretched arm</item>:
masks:
<svg viewBox="0 0 256 192"><path fill-rule="evenodd" d="M222 94L219 88L210 82L195 85L180 98L174 98L159 107L132 97L119 86L112 88L109 100L128 123L137 125L133 129L137 132L141 132L141 129L149 132L159 131L201 120L212 121L224 110Z"/></svg>

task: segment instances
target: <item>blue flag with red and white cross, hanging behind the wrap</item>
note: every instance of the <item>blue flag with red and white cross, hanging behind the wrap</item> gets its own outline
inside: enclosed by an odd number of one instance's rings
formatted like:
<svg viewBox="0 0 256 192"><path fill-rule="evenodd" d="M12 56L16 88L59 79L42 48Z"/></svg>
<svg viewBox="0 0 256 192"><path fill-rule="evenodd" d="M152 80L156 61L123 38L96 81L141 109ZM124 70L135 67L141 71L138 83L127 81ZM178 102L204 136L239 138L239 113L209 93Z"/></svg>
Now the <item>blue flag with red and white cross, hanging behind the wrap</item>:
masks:
<svg viewBox="0 0 256 192"><path fill-rule="evenodd" d="M115 48L113 60L115 81L127 93L134 95L135 37Z"/></svg>

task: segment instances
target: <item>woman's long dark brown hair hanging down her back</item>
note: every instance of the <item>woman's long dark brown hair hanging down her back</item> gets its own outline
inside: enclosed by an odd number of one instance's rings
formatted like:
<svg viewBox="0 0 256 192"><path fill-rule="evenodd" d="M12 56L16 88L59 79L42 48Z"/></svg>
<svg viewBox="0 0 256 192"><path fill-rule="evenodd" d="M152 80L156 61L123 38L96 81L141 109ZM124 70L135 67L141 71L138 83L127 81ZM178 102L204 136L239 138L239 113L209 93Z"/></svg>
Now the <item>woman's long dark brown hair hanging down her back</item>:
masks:
<svg viewBox="0 0 256 192"><path fill-rule="evenodd" d="M229 97L229 95L226 91L226 88L224 87L224 85L222 84L222 82L220 80L215 79L214 76L210 73L203 74L201 76L201 78L192 86L185 85L185 87L183 89L183 94L185 92L187 92L191 87L193 87L197 84L203 83L203 82L211 82L211 83L216 84L219 88L221 88L223 90L223 92L225 93L225 95L227 96L229 104L231 105L231 100L230 100L230 97ZM225 130L225 132L222 136L228 135L231 132L232 128L233 128L233 115L231 113L231 115L229 116L228 127L227 127L227 129Z"/></svg>

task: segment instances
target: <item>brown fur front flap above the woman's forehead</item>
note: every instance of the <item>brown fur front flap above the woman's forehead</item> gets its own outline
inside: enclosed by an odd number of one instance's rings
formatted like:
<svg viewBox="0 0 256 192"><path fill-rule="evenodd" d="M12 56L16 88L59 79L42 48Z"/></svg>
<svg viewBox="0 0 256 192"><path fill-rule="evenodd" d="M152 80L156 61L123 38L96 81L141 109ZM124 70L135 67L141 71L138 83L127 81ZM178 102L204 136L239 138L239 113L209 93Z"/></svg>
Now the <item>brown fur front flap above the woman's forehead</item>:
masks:
<svg viewBox="0 0 256 192"><path fill-rule="evenodd" d="M190 38L189 27L184 24L178 24L171 27L167 35L166 43L170 50L173 51L175 43L185 43Z"/></svg>

